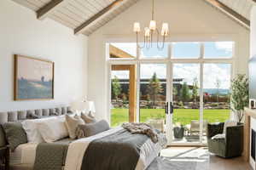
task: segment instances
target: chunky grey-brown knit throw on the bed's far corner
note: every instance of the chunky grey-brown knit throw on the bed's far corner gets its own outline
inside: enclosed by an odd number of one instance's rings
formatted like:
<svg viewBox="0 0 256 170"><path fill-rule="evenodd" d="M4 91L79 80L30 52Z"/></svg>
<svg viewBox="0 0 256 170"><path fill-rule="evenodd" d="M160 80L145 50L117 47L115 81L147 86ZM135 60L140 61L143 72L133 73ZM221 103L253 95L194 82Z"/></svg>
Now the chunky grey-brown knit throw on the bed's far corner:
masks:
<svg viewBox="0 0 256 170"><path fill-rule="evenodd" d="M143 122L125 122L122 127L128 130L130 133L143 133L152 140L152 142L158 142L158 133L153 127L149 126L147 123Z"/></svg>

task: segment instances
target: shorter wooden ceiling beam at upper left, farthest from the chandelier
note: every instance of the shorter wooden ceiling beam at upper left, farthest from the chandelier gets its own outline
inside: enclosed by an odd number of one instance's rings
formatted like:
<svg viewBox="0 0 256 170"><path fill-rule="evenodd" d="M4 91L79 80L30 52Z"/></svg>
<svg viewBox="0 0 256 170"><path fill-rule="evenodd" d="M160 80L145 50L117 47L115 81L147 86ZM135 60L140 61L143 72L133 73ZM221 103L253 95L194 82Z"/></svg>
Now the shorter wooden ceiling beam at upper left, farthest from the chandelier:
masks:
<svg viewBox="0 0 256 170"><path fill-rule="evenodd" d="M56 8L59 8L67 0L52 0L44 7L39 8L37 11L38 20L44 20L50 13L52 13Z"/></svg>

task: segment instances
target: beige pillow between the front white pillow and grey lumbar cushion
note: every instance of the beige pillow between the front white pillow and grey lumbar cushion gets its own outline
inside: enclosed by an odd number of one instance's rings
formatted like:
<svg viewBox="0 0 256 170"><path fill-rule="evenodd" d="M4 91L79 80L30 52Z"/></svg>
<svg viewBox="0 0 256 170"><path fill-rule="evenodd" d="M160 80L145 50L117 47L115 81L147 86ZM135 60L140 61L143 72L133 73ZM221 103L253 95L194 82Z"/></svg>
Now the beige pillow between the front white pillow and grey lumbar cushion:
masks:
<svg viewBox="0 0 256 170"><path fill-rule="evenodd" d="M84 121L83 119L81 119L80 116L69 116L69 115L66 115L66 126L67 126L67 131L68 131L68 134L69 134L69 137L71 139L76 139L77 138L77 135L76 135L76 128L79 126L79 125L84 125Z"/></svg>

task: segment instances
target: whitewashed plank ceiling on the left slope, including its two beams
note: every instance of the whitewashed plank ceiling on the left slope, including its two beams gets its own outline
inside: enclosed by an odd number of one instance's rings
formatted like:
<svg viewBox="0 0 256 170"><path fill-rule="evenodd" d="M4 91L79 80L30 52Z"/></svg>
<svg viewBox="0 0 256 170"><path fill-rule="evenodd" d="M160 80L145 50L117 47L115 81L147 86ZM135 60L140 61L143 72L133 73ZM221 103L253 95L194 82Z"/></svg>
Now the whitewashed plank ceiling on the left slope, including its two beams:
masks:
<svg viewBox="0 0 256 170"><path fill-rule="evenodd" d="M138 0L13 0L35 12L48 13L49 17L74 30L74 33L90 35L117 15L131 7ZM57 5L50 5L55 2ZM58 3L59 2L59 3ZM44 8L48 5L49 12ZM92 20L94 19L94 20ZM90 21L90 22L88 22Z"/></svg>

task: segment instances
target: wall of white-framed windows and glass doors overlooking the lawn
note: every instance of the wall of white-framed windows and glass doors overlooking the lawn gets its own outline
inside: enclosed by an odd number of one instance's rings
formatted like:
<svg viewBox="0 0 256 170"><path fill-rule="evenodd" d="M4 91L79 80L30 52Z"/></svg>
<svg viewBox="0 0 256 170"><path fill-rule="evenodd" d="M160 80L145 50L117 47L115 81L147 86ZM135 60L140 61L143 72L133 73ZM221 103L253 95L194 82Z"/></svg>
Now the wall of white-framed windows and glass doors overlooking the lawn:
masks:
<svg viewBox="0 0 256 170"><path fill-rule="evenodd" d="M147 122L171 144L206 143L207 123L230 117L234 44L167 42L162 50L156 43L137 50L136 43L111 43L119 54L130 55L108 61L111 126ZM166 110L171 102L172 116Z"/></svg>

